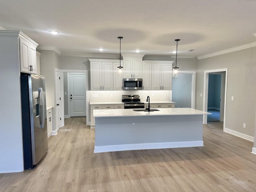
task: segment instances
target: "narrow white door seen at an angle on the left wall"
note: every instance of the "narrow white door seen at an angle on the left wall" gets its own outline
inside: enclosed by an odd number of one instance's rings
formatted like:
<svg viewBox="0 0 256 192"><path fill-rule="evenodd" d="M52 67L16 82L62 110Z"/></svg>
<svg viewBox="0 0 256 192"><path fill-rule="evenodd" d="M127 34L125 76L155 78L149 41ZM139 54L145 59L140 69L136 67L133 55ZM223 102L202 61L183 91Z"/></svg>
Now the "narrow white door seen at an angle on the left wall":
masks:
<svg viewBox="0 0 256 192"><path fill-rule="evenodd" d="M60 92L60 70L55 70L55 89L56 89L56 130L60 129L61 124L61 92Z"/></svg>

